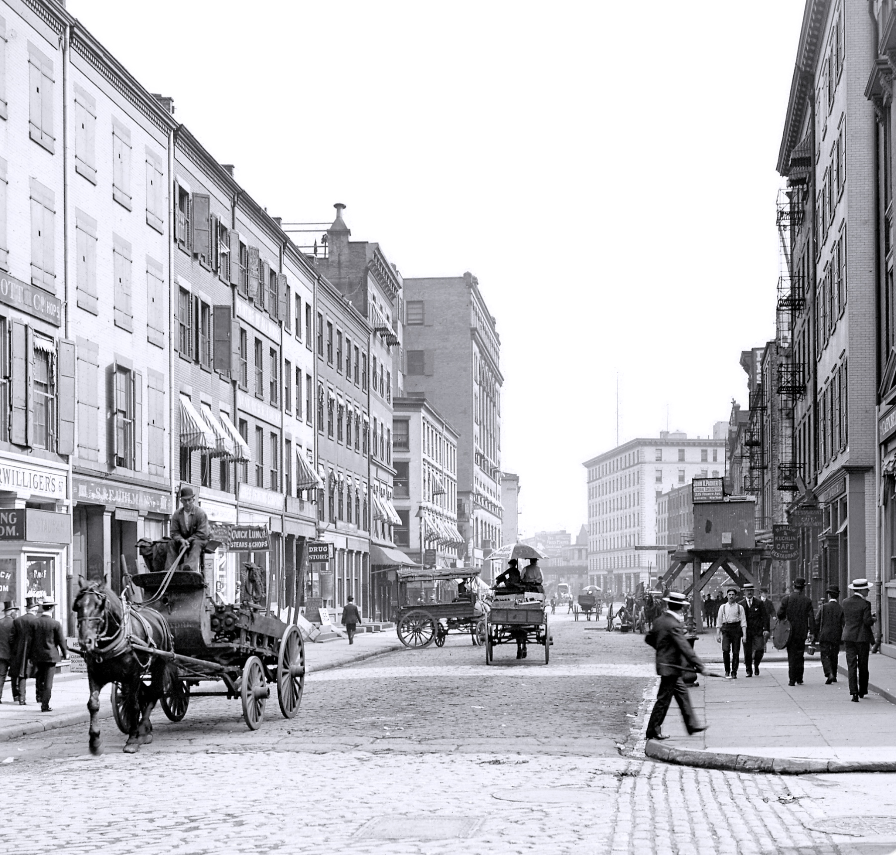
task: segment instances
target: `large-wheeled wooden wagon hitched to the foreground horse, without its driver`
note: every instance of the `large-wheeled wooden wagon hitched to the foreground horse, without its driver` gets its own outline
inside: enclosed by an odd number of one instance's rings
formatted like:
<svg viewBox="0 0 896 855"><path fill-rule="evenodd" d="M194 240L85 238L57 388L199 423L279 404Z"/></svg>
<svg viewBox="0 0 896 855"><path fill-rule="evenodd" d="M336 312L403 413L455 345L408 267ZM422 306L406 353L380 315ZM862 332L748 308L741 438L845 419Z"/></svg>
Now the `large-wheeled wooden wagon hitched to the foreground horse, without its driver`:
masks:
<svg viewBox="0 0 896 855"><path fill-rule="evenodd" d="M298 712L305 688L305 643L295 624L265 613L254 602L231 605L215 602L206 592L201 573L169 570L142 573L132 579L142 588L145 608L165 617L174 652L132 641L134 650L171 661L174 666L161 699L170 721L180 721L190 696L220 695L195 692L203 682L223 682L228 698L239 698L250 730L257 730L277 684L280 712L291 719ZM118 729L133 731L129 716L135 704L113 687L112 709Z"/></svg>

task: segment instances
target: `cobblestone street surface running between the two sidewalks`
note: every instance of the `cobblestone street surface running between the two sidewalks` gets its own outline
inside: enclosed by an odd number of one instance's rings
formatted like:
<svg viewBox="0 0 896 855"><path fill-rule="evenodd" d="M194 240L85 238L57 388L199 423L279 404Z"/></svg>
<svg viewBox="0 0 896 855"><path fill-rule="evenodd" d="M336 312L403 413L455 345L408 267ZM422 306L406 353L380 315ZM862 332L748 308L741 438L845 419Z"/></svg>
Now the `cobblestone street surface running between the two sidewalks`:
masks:
<svg viewBox="0 0 896 855"><path fill-rule="evenodd" d="M650 650L594 627L557 615L547 667L534 648L520 663L499 648L489 668L450 636L442 650L311 675L298 717L280 718L271 698L254 733L236 702L196 698L177 725L157 710L155 741L137 756L121 753L110 720L99 758L82 725L8 742L0 852L892 850L896 829L880 817L894 806L874 801L890 776L644 760ZM24 809L49 792L66 796L52 832ZM831 833L849 831L835 820L851 811L878 817L883 836L867 823L861 838Z"/></svg>

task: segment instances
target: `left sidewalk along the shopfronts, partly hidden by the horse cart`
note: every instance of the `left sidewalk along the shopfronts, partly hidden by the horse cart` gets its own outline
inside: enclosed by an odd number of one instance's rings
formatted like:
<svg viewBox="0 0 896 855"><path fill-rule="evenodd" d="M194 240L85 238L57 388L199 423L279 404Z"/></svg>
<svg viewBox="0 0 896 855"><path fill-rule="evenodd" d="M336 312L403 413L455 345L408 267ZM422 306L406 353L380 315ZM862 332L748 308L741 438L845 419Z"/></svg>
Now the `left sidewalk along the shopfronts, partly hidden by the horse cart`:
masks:
<svg viewBox="0 0 896 855"><path fill-rule="evenodd" d="M359 633L355 636L355 643L351 645L346 639L323 644L306 643L306 673L340 668L372 656L402 650L403 647L394 630L383 633ZM209 685L213 687L215 684ZM86 674L56 675L53 681L53 699L50 701L53 712L40 712L40 704L34 697L33 679L28 681L25 691L28 703L25 706L13 704L9 682L7 681L4 686L3 703L0 704L0 742L90 720L90 714L87 712L90 689ZM109 718L112 715L109 704L110 691L110 687L105 687L102 691L99 708L101 718Z"/></svg>

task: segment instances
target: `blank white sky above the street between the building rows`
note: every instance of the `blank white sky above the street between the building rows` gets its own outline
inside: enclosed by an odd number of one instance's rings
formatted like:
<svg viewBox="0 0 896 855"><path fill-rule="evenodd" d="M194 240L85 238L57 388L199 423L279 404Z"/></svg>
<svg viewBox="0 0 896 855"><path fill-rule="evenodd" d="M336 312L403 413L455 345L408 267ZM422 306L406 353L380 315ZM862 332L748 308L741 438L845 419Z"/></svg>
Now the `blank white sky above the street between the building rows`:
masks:
<svg viewBox="0 0 896 855"><path fill-rule="evenodd" d="M478 276L523 534L586 521L617 376L623 442L746 404L800 0L68 8L274 216Z"/></svg>

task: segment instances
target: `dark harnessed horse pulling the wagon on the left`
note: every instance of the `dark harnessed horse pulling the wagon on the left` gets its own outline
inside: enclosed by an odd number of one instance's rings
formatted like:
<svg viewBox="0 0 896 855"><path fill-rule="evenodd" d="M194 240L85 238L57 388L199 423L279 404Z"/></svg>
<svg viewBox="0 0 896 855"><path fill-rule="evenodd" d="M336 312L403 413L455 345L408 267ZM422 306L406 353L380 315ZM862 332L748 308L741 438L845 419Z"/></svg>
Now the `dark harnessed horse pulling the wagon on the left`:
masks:
<svg viewBox="0 0 896 855"><path fill-rule="evenodd" d="M123 721L130 729L125 752L134 754L152 741L150 713L164 692L169 666L160 656L134 650L131 641L170 652L168 622L154 609L123 603L103 582L82 580L72 610L78 616L78 640L90 682L90 753L103 751L99 690L117 683L125 706ZM149 686L143 682L146 677L151 678Z"/></svg>

